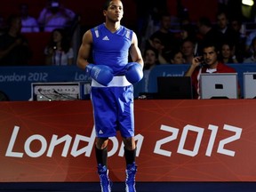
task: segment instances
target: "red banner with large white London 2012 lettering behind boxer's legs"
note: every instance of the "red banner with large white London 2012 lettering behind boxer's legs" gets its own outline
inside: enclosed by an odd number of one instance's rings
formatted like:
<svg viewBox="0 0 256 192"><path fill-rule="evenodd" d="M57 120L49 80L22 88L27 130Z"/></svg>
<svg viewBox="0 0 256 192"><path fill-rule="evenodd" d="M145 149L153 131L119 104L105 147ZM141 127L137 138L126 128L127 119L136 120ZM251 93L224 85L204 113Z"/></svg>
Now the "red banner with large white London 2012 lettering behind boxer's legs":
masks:
<svg viewBox="0 0 256 192"><path fill-rule="evenodd" d="M135 100L138 181L256 181L256 100ZM99 181L90 100L0 102L0 181ZM109 176L124 181L110 138Z"/></svg>

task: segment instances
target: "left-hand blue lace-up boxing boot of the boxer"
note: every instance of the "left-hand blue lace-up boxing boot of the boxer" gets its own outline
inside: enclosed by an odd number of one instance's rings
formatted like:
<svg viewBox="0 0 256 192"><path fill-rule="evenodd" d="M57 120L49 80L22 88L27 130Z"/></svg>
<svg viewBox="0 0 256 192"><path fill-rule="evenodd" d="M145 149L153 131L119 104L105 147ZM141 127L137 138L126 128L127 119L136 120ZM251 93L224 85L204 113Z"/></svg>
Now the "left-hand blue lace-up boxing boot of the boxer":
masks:
<svg viewBox="0 0 256 192"><path fill-rule="evenodd" d="M100 175L101 192L111 192L111 182L108 179L108 169L106 165L98 165L98 173Z"/></svg>

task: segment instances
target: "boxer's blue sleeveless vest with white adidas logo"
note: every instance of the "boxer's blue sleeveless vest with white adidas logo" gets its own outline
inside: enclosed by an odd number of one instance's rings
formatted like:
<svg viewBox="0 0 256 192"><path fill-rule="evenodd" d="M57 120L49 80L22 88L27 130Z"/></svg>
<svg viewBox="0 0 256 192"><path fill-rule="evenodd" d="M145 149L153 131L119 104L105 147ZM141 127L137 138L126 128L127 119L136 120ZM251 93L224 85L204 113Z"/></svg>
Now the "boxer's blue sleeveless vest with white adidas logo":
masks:
<svg viewBox="0 0 256 192"><path fill-rule="evenodd" d="M111 33L103 23L91 28L91 31L93 62L109 66L114 70L114 76L124 75L132 44L132 30L120 26L115 33Z"/></svg>

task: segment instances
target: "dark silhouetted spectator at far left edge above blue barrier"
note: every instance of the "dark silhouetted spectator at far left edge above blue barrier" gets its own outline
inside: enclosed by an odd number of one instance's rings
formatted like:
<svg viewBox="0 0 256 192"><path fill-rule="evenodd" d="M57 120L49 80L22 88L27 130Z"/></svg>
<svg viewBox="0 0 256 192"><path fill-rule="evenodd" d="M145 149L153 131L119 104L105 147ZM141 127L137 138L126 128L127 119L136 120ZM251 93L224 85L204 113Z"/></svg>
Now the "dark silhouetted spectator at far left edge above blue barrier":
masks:
<svg viewBox="0 0 256 192"><path fill-rule="evenodd" d="M20 16L11 15L7 25L7 32L0 36L0 66L26 66L32 52L27 38L20 33Z"/></svg>

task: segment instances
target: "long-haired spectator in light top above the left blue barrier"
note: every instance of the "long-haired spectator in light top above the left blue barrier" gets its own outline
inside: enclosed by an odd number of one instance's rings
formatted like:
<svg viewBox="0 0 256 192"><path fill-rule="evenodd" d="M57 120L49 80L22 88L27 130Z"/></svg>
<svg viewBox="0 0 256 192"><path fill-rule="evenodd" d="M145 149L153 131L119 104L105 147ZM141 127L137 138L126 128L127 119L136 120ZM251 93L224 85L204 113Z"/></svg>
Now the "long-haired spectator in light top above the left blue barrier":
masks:
<svg viewBox="0 0 256 192"><path fill-rule="evenodd" d="M49 44L44 49L45 64L67 66L72 65L74 60L74 51L70 40L63 28L55 28Z"/></svg>

